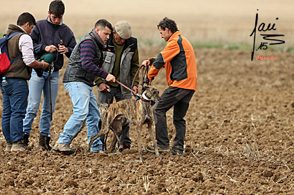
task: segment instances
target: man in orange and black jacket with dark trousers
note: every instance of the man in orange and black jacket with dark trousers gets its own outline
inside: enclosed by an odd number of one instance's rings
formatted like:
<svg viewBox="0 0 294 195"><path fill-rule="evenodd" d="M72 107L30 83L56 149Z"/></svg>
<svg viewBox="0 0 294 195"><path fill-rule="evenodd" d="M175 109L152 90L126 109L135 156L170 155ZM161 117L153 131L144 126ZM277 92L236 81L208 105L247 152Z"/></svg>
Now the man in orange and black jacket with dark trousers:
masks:
<svg viewBox="0 0 294 195"><path fill-rule="evenodd" d="M143 65L151 65L148 72L150 83L160 68L165 67L169 85L169 88L160 96L161 101L153 108L158 151L169 151L166 112L174 106L173 120L176 136L171 154L183 155L186 131L184 116L197 87L195 54L191 43L183 37L175 21L165 17L157 28L161 38L167 41L167 45L156 59L147 59L143 61ZM154 147L147 147L147 151L155 153Z"/></svg>

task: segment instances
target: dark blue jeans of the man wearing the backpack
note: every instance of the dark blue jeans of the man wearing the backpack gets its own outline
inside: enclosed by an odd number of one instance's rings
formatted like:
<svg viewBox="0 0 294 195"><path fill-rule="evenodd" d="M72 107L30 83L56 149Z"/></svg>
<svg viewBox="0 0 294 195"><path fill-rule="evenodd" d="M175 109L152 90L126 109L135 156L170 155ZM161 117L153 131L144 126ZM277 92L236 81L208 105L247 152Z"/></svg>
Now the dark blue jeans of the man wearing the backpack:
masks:
<svg viewBox="0 0 294 195"><path fill-rule="evenodd" d="M5 94L1 84L3 97L2 132L6 142L21 141L23 119L28 105L28 83L26 79L6 78L12 85L12 94Z"/></svg>

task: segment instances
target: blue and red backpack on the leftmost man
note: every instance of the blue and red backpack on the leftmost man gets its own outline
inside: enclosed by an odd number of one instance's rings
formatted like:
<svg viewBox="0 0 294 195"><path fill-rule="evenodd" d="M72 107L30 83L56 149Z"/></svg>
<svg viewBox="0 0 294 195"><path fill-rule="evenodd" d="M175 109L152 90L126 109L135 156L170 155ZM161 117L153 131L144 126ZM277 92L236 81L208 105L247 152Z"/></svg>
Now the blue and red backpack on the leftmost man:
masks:
<svg viewBox="0 0 294 195"><path fill-rule="evenodd" d="M17 59L21 57L21 54L19 54L15 59L10 61L8 48L7 48L8 40L19 33L21 32L13 32L12 34L10 34L9 37L7 34L4 34L3 38L0 39L0 74L3 74L4 72L6 72L10 68L10 65L15 63L15 61L17 61Z"/></svg>

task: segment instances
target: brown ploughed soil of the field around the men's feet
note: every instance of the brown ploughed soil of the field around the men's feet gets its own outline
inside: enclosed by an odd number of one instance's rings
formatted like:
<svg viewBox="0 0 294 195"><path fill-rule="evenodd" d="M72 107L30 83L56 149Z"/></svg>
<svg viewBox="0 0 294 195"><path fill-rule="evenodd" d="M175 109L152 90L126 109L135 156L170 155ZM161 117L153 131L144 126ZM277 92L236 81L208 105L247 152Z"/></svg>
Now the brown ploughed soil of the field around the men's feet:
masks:
<svg viewBox="0 0 294 195"><path fill-rule="evenodd" d="M140 49L141 59L160 48ZM291 194L294 192L293 54L264 52L277 61L250 61L241 50L196 50L199 73L185 117L183 156L143 152L138 162L137 135L122 154L87 152L86 129L75 138L71 156L37 147L38 117L28 152L4 152L0 139L0 193L5 194ZM64 69L60 73L60 78ZM167 87L165 71L152 83ZM1 112L1 111L0 111ZM60 83L51 128L52 141L72 113ZM174 138L172 111L167 112ZM145 127L143 142L151 145Z"/></svg>

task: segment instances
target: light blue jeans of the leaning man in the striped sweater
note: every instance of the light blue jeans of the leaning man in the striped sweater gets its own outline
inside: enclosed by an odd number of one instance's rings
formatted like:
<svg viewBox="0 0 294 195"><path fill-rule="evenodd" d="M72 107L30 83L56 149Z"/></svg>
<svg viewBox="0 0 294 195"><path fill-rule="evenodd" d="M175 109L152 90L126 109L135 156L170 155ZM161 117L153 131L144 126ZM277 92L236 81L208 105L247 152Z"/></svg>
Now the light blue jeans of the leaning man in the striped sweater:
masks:
<svg viewBox="0 0 294 195"><path fill-rule="evenodd" d="M100 112L93 88L83 82L64 83L66 92L71 96L73 102L73 115L64 125L64 131L60 134L57 143L70 143L71 138L77 134L86 119L86 132L88 142L91 138L98 134L98 123L100 120ZM102 151L102 142L100 138L96 138L91 145L91 152Z"/></svg>

